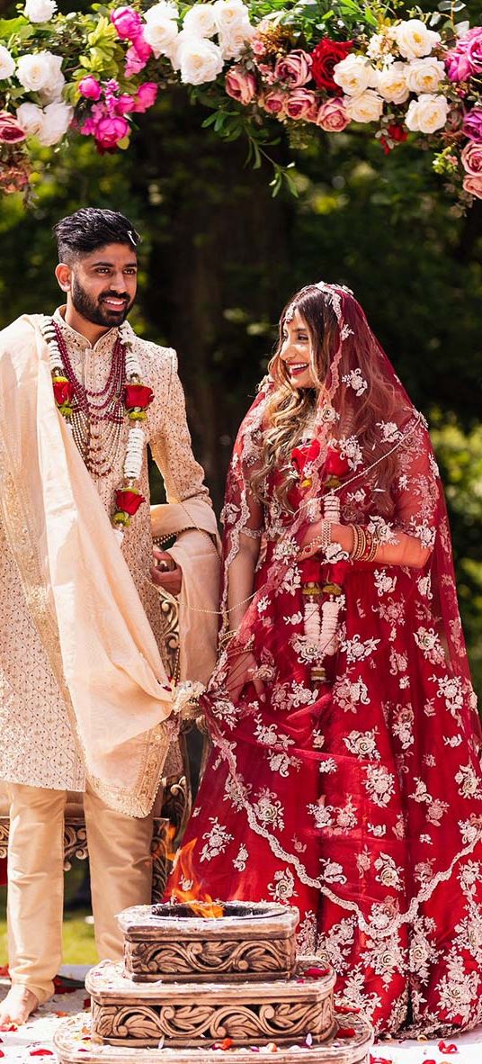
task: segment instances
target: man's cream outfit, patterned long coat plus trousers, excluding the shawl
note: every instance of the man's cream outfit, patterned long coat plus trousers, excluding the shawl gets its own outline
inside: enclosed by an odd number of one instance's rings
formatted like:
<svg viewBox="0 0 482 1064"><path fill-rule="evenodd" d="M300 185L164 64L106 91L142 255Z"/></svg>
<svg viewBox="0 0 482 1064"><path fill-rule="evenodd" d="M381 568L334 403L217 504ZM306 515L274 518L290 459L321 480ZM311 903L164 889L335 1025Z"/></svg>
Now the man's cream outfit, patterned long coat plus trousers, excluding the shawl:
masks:
<svg viewBox="0 0 482 1064"><path fill-rule="evenodd" d="M88 390L99 392L109 377L117 330L105 333L92 347L84 336L65 323L61 311L55 312L55 320L62 329L78 379ZM176 352L138 337L134 343L143 383L154 393L145 422L147 439L163 476L168 502L177 504L178 529L180 525L186 530L193 529L196 521L192 513L200 503L209 505L209 493L203 485L202 469L190 448ZM122 426L120 445L113 455L109 476L93 478L109 515L113 510L115 488L122 481L127 433L128 427ZM147 453L139 488L147 501L132 518L121 549L162 650L159 594L149 579L152 534ZM183 511L185 525L179 520L179 513L182 516ZM218 563L213 538L200 531L189 531L185 535L189 542L195 537L197 566L209 555L211 581L215 582ZM179 543L182 543L182 534ZM51 980L61 957L62 829L66 791L86 791L94 915L101 957L119 955L115 912L150 900L151 816L132 819L121 812L113 812L86 784L84 761L63 692L32 620L15 558L1 525L0 580L0 780L6 782L12 803L10 966L14 981L30 986L43 1000L51 993ZM212 595L211 598L207 595L207 602L214 605ZM210 625L214 633L213 619ZM200 617L201 626L204 631L205 625ZM181 768L181 759L174 744L165 771L171 774L178 768Z"/></svg>

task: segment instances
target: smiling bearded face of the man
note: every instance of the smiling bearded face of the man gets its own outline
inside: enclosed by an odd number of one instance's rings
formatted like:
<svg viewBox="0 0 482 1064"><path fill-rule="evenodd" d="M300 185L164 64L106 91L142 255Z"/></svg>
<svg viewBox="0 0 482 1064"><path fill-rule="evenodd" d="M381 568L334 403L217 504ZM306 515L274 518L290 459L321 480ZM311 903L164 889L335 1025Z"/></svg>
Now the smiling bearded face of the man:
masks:
<svg viewBox="0 0 482 1064"><path fill-rule="evenodd" d="M69 268L68 292L82 317L97 326L120 326L135 300L137 256L128 244L106 244Z"/></svg>

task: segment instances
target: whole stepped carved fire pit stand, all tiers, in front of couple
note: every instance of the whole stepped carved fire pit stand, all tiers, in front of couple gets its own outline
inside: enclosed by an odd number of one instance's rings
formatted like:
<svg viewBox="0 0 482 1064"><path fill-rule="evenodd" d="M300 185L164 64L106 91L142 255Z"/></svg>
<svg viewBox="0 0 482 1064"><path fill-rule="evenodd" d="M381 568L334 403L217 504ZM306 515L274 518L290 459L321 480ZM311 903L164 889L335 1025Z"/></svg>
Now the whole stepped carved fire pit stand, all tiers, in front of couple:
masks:
<svg viewBox="0 0 482 1064"><path fill-rule="evenodd" d="M298 912L244 902L137 907L119 916L124 963L86 979L92 1017L61 1025L61 1064L229 1064L277 1052L280 1064L368 1064L372 1032L335 1016L335 975L296 958Z"/></svg>

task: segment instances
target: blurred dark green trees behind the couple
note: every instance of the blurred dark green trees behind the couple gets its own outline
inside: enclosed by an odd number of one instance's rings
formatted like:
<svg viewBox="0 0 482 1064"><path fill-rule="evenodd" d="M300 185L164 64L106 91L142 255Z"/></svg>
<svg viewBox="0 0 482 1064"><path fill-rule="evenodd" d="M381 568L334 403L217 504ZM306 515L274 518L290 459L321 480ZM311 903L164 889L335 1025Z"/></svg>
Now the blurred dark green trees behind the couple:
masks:
<svg viewBox="0 0 482 1064"><path fill-rule="evenodd" d="M469 6L480 23L482 2ZM348 284L431 425L481 691L482 202L461 217L430 152L403 145L385 157L364 134L320 131L272 149L295 159L299 192L273 200L269 168L246 167L245 146L202 130L204 117L182 90L163 94L128 152L99 156L81 138L54 156L31 210L3 197L0 326L60 301L50 235L60 216L85 204L127 213L144 235L133 323L179 351L195 449L219 508L286 298L320 278ZM152 484L157 498L155 470Z"/></svg>

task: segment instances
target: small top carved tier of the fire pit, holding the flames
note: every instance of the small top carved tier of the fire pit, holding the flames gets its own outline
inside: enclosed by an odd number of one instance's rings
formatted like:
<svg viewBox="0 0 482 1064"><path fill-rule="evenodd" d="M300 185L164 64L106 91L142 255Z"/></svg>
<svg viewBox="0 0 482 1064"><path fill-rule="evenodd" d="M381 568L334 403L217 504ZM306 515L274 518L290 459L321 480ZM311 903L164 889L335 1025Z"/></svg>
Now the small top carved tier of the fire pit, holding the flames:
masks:
<svg viewBox="0 0 482 1064"><path fill-rule="evenodd" d="M185 904L136 905L118 917L126 974L133 982L263 982L296 966L298 911L232 901L210 919Z"/></svg>

